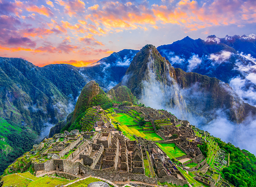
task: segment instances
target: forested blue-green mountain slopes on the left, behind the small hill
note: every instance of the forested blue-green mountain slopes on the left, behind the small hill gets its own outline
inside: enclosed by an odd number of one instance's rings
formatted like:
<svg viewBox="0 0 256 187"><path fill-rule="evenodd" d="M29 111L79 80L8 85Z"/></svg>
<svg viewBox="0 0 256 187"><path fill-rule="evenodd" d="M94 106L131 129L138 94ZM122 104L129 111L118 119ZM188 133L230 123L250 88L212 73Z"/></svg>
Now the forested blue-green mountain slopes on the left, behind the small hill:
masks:
<svg viewBox="0 0 256 187"><path fill-rule="evenodd" d="M11 128L14 136L24 134L25 139L39 141L59 121L65 126L65 119L74 110L86 83L97 80L108 91L122 80L137 52L125 49L101 59L93 67L82 68L67 64L38 67L21 58L0 57L0 118L15 129ZM13 144L16 139L1 132L0 139L0 152L6 153L0 156L0 163L5 163L0 167L2 173L6 164L31 149L33 141L23 141L23 146Z"/></svg>

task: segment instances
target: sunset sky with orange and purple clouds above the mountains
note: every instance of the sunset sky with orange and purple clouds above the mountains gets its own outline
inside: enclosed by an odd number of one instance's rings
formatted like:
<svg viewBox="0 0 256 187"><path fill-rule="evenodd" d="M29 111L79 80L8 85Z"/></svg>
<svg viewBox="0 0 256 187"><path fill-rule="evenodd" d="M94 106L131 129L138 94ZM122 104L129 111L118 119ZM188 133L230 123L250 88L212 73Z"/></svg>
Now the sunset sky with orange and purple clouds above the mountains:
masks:
<svg viewBox="0 0 256 187"><path fill-rule="evenodd" d="M40 67L90 66L123 49L255 28L255 0L0 0L0 56Z"/></svg>

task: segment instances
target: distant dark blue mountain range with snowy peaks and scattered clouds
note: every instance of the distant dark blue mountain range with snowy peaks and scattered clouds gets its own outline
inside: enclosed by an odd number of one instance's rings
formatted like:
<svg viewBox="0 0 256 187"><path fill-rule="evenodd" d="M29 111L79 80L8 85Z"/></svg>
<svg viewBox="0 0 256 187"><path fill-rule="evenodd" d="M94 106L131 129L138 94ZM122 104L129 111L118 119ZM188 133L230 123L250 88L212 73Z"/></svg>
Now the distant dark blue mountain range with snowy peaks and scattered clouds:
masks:
<svg viewBox="0 0 256 187"><path fill-rule="evenodd" d="M205 40L188 36L157 47L175 68L215 77L237 91L244 102L256 106L256 37L208 36Z"/></svg>

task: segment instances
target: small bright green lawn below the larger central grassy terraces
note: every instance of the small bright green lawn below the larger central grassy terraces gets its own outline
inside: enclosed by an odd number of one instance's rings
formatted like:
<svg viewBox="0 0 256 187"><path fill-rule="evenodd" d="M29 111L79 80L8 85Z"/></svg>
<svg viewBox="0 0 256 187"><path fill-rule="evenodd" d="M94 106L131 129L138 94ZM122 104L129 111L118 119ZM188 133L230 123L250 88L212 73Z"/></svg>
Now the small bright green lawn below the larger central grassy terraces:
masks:
<svg viewBox="0 0 256 187"><path fill-rule="evenodd" d="M176 146L176 151L174 152L174 143L156 143L159 148L161 148L169 158L176 158L185 155L185 153Z"/></svg>

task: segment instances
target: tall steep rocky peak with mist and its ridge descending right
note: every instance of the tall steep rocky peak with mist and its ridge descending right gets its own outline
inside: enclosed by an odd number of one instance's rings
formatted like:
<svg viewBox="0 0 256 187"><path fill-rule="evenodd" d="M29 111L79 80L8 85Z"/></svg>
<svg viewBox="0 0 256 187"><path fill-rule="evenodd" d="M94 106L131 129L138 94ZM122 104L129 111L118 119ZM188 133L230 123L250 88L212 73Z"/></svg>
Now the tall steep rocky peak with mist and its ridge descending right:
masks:
<svg viewBox="0 0 256 187"><path fill-rule="evenodd" d="M168 108L201 123L214 119L222 109L231 121L243 121L256 108L244 103L232 88L216 78L174 68L153 45L146 45L133 58L122 81L146 106ZM116 88L114 87L114 89Z"/></svg>

